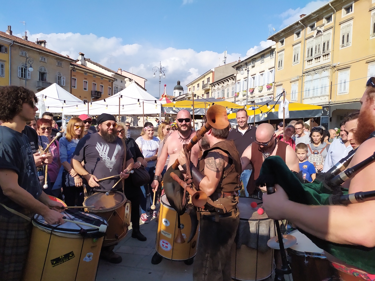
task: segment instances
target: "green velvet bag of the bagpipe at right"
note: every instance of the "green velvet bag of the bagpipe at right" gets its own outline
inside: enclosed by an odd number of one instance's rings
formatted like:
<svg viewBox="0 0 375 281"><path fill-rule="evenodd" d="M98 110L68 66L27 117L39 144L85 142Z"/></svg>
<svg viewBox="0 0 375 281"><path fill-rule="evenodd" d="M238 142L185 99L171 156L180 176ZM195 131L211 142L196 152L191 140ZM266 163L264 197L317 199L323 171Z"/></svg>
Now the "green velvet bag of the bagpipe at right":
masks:
<svg viewBox="0 0 375 281"><path fill-rule="evenodd" d="M305 205L333 205L338 202L339 196L348 194L348 190L334 191L318 179L311 183L302 183L297 175L288 168L281 157L271 156L264 160L256 184L258 186L279 184L291 201ZM375 274L375 247L336 244L317 238L301 229L300 231L332 256L370 274Z"/></svg>

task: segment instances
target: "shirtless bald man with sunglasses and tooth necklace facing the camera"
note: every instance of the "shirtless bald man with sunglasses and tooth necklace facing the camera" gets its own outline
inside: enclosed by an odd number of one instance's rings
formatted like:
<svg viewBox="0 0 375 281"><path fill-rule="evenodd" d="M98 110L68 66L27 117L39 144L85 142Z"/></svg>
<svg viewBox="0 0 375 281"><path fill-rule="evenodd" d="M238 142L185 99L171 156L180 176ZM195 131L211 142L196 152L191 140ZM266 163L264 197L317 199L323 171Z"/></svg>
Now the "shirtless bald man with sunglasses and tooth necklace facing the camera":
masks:
<svg viewBox="0 0 375 281"><path fill-rule="evenodd" d="M190 140L195 136L196 132L191 126L191 115L190 112L183 109L177 113L176 118L177 130L173 131L171 134L165 137L164 145L160 153L160 157L157 160L155 168L154 180L151 183L152 189L157 191L159 186L160 175L164 169L166 158L169 155L169 164L167 169L175 162L178 154L181 151L184 143L189 143ZM191 150L191 161L196 166L199 157L199 146L194 145ZM182 168L181 168L182 169Z"/></svg>

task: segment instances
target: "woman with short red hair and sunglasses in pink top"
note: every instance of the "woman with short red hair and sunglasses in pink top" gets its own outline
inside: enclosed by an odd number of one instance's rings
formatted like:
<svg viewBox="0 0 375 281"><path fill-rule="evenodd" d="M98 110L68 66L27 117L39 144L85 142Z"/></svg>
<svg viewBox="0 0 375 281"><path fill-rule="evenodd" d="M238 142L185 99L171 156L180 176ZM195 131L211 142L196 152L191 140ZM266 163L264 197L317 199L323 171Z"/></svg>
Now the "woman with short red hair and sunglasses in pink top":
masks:
<svg viewBox="0 0 375 281"><path fill-rule="evenodd" d="M48 143L50 143L53 139L51 132L52 132L52 121L46 118L40 118L37 122L37 134L38 139L40 137L46 138L46 145L43 145L43 148L45 148ZM60 152L59 152L59 143L57 140L51 143L49 146L49 151L52 154L52 163L48 164L47 174L48 174L48 188L44 190L45 193L48 195L56 196L61 198L61 192L60 190L54 190L52 192L52 186L55 184L55 181L57 179L58 171L61 167L60 162ZM44 182L43 182L44 185Z"/></svg>

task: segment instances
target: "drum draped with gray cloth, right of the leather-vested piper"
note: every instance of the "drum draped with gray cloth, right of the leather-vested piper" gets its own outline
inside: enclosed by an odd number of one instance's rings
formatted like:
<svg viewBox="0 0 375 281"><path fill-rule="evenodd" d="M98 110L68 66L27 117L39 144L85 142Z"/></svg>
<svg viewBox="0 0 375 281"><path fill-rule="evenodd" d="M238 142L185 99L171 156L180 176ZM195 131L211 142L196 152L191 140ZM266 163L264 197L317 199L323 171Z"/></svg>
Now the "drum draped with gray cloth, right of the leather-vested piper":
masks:
<svg viewBox="0 0 375 281"><path fill-rule="evenodd" d="M267 214L258 214L251 208L258 199L240 197L237 205L240 211L240 224L234 240L232 254L232 278L234 280L264 280L274 270L273 249L267 241L276 235L275 223Z"/></svg>

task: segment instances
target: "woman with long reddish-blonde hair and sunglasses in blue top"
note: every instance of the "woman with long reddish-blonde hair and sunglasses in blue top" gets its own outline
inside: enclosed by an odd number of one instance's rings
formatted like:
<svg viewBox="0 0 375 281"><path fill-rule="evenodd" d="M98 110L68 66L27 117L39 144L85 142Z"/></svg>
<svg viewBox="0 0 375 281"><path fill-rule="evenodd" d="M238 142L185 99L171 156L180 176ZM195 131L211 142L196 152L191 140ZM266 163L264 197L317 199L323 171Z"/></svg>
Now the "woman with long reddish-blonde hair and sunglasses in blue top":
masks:
<svg viewBox="0 0 375 281"><path fill-rule="evenodd" d="M73 117L69 120L66 126L66 134L60 139L60 161L62 167L59 171L62 175L62 187L65 196L65 203L68 206L75 206L75 201L77 200L77 206L82 206L83 204L83 181L80 175L72 169L71 159L75 148L83 138L83 121L78 117ZM57 181L56 181L57 183ZM55 183L55 185L56 185ZM56 186L53 187L57 188Z"/></svg>

